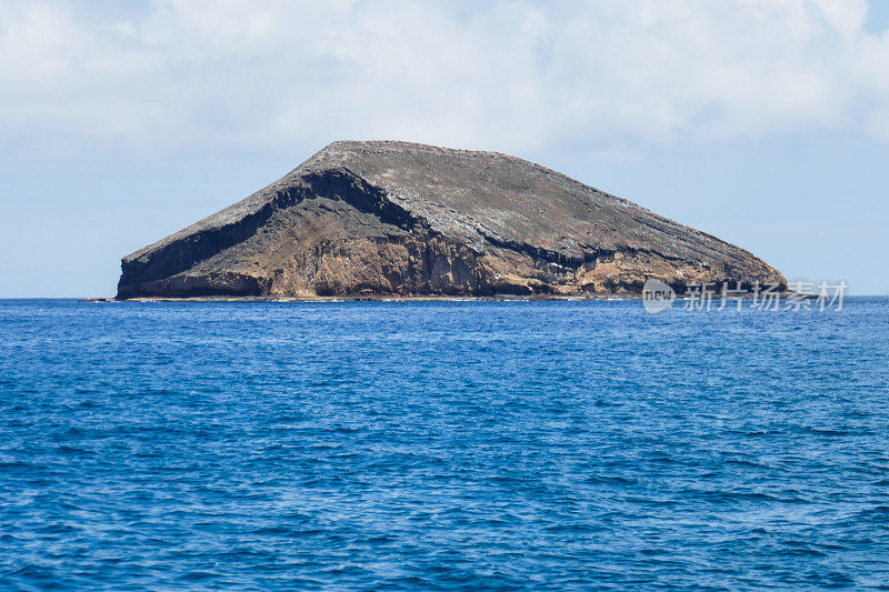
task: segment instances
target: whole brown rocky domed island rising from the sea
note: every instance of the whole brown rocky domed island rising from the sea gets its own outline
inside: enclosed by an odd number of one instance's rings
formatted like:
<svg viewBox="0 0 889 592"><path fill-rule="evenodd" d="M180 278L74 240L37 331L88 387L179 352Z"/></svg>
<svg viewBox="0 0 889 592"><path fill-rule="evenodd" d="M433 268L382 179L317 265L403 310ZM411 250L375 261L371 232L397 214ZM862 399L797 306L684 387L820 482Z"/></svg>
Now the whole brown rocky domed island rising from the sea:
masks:
<svg viewBox="0 0 889 592"><path fill-rule="evenodd" d="M773 282L751 253L493 152L334 142L122 260L118 298L638 293Z"/></svg>

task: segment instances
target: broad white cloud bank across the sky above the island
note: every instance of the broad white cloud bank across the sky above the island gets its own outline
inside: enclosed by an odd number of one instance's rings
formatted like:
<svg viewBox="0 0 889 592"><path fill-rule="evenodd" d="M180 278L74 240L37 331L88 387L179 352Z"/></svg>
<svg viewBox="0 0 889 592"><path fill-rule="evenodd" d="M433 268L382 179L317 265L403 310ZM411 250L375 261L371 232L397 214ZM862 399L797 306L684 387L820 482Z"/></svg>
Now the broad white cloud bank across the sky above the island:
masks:
<svg viewBox="0 0 889 592"><path fill-rule="evenodd" d="M889 141L863 0L0 0L0 146L403 138L537 151L843 129ZM618 140L616 140L618 139Z"/></svg>

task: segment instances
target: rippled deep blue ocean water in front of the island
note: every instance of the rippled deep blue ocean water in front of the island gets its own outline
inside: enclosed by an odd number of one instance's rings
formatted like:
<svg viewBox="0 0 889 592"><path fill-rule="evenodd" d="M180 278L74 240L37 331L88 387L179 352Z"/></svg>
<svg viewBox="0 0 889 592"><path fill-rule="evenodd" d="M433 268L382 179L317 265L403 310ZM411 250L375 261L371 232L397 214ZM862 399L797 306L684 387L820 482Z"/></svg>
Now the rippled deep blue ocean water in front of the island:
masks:
<svg viewBox="0 0 889 592"><path fill-rule="evenodd" d="M889 589L889 299L0 301L0 588Z"/></svg>

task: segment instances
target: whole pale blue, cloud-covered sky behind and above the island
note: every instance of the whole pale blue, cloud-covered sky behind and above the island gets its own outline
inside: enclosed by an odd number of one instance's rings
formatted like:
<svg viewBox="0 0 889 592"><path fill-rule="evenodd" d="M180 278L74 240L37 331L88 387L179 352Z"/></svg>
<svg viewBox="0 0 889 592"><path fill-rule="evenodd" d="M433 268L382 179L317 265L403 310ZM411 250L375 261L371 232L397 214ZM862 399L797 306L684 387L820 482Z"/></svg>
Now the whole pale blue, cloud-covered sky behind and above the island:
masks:
<svg viewBox="0 0 889 592"><path fill-rule="evenodd" d="M113 295L341 139L507 152L889 294L889 1L0 0L0 298Z"/></svg>

